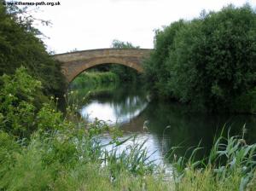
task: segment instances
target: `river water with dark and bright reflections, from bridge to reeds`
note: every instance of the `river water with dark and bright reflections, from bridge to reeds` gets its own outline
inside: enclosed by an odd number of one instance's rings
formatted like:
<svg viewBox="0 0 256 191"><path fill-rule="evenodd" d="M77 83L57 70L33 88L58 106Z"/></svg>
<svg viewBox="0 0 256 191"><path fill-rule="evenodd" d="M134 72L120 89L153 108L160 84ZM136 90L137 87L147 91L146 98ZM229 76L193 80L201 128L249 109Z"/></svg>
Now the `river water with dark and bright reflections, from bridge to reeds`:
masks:
<svg viewBox="0 0 256 191"><path fill-rule="evenodd" d="M94 89L96 90L96 89ZM88 90L80 90L85 94ZM119 85L114 88L96 90L81 106L80 114L85 120L102 119L110 125L117 125L124 131L124 139L137 134L137 142L147 141L150 159L157 164L168 165L168 154L172 147L179 147L175 153L183 156L191 147L201 142L204 149L197 154L199 159L209 152L215 135L223 129L227 135L241 135L246 125L247 142L256 141L256 117L252 115L228 115L192 113L187 106L177 102L150 101L142 88L133 85ZM111 137L104 135L102 143ZM131 142L126 142L131 144Z"/></svg>

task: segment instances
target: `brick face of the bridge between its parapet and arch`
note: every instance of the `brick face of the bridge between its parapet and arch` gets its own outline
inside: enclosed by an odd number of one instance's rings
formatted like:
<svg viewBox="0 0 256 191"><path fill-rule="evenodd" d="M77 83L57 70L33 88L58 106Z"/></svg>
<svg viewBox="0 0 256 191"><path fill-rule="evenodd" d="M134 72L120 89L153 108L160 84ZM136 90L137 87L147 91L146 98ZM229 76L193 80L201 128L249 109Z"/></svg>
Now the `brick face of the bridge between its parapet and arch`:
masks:
<svg viewBox="0 0 256 191"><path fill-rule="evenodd" d="M138 57L102 57L95 59L87 59L83 61L73 61L64 63L62 65L62 72L67 77L67 82L70 83L76 78L81 72L84 72L90 67L96 67L102 64L119 64L126 67L131 67L137 72L143 72L143 67L141 66L141 59Z"/></svg>

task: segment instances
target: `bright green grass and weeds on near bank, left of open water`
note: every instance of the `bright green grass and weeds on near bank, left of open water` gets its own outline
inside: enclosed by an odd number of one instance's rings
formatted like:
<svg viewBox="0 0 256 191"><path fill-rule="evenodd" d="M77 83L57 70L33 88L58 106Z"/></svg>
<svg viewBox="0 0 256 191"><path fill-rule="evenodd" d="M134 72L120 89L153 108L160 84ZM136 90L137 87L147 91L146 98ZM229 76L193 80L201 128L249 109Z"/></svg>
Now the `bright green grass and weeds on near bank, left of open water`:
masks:
<svg viewBox="0 0 256 191"><path fill-rule="evenodd" d="M160 178L154 178L142 164L137 145L131 152L118 156L106 155L94 140L96 129L88 136L79 137L66 132L32 136L29 145L1 132L0 188L3 190L139 190L145 185L160 187ZM94 136L90 136L90 135ZM6 141L9 141L3 144ZM12 148L12 149L6 149ZM15 149L14 149L15 148ZM144 154L144 153L142 153ZM108 165L102 165L102 157ZM111 158L111 159L110 159ZM112 160L116 158L117 160ZM123 161L134 161L129 165ZM135 162L136 161L136 162ZM129 166L127 166L129 165ZM139 168L133 168L134 166ZM117 167L119 166L119 167ZM140 173L137 173L140 172ZM114 177L114 178L113 178ZM148 183L146 183L148 182ZM150 190L150 189L149 189Z"/></svg>

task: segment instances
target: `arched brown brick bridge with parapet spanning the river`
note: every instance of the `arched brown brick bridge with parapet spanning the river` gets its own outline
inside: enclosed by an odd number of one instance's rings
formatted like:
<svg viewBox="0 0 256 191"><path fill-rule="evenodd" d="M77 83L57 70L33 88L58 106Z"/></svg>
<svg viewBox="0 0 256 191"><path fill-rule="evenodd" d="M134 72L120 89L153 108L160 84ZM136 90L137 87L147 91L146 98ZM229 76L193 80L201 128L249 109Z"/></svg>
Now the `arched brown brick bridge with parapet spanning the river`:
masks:
<svg viewBox="0 0 256 191"><path fill-rule="evenodd" d="M120 64L143 72L142 61L152 49L91 49L54 55L61 61L62 72L70 83L79 73L101 64Z"/></svg>

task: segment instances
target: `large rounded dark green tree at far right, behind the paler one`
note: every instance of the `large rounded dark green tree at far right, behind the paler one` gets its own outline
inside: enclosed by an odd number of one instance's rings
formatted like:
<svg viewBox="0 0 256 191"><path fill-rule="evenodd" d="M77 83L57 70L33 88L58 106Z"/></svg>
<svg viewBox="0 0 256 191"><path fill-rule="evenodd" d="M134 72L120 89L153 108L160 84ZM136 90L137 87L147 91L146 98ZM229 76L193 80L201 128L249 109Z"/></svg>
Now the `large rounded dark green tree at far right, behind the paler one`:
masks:
<svg viewBox="0 0 256 191"><path fill-rule="evenodd" d="M256 83L256 14L232 5L192 20L168 58L168 88L181 101L211 110L233 110ZM250 108L248 108L250 109Z"/></svg>

